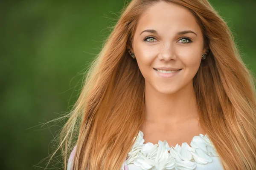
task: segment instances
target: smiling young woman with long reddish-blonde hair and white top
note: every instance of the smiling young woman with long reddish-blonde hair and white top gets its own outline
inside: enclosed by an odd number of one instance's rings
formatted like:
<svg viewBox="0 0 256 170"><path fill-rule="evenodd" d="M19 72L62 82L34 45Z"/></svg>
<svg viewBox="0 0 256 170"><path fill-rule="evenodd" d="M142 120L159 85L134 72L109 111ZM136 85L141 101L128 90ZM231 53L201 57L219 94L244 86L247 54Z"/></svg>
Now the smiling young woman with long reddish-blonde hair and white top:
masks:
<svg viewBox="0 0 256 170"><path fill-rule="evenodd" d="M207 0L132 0L68 116L68 170L256 170L255 78Z"/></svg>

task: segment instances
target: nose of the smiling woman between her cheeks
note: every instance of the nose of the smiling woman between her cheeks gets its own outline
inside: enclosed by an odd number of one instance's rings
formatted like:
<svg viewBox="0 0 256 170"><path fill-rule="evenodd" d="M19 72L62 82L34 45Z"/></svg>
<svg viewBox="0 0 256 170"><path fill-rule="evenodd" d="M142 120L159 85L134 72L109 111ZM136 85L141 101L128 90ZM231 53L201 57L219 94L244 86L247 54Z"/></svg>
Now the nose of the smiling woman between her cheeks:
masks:
<svg viewBox="0 0 256 170"><path fill-rule="evenodd" d="M175 49L171 43L166 43L160 50L159 59L163 61L176 60Z"/></svg>

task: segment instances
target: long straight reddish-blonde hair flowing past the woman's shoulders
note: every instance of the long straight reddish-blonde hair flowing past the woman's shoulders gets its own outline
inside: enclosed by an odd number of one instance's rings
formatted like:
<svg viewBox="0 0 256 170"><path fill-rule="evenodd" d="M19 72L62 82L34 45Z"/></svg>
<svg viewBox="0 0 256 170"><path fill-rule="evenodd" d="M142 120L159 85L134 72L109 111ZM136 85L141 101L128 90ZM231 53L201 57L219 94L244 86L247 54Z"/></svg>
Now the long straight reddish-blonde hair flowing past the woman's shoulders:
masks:
<svg viewBox="0 0 256 170"><path fill-rule="evenodd" d="M76 145L73 170L119 170L144 115L145 80L131 46L139 17L161 0L132 0L91 65L79 99L60 133L67 158ZM210 52L193 78L200 125L225 170L256 170L256 91L253 73L241 59L234 37L207 0L164 0L189 9Z"/></svg>

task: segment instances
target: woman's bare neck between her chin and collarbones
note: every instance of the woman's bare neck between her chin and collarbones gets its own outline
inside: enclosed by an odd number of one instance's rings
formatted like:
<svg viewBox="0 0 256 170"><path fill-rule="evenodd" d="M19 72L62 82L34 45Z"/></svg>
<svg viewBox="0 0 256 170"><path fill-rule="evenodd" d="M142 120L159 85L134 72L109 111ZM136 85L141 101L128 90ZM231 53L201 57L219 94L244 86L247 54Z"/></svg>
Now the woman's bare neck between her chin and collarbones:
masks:
<svg viewBox="0 0 256 170"><path fill-rule="evenodd" d="M145 121L177 124L193 118L198 118L198 108L192 82L172 94L160 93L145 82Z"/></svg>

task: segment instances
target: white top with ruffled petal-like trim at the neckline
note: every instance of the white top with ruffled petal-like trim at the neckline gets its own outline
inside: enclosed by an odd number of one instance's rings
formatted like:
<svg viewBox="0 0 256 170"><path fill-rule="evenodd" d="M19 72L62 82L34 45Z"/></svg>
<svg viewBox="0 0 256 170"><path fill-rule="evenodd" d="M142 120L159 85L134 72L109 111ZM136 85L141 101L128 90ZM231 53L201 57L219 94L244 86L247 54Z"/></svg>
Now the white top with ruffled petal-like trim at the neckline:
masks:
<svg viewBox="0 0 256 170"><path fill-rule="evenodd" d="M144 143L143 132L137 138L120 170L224 170L209 137L194 136L186 142L169 147L166 140Z"/></svg>

